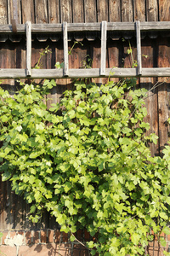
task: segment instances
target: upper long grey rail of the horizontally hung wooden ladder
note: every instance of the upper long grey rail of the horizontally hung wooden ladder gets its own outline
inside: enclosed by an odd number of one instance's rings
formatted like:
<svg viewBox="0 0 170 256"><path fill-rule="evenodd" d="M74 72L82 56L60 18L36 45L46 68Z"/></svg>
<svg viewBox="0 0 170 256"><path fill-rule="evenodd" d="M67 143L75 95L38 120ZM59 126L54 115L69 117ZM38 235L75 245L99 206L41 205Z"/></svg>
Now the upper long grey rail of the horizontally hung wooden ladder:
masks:
<svg viewBox="0 0 170 256"><path fill-rule="evenodd" d="M100 31L100 22L96 23L68 23L68 32L93 32ZM141 31L168 31L170 21L141 22ZM32 33L57 33L62 32L62 24L32 24ZM107 31L135 31L134 22L108 22ZM12 25L0 25L1 33L12 33ZM18 24L17 33L25 33L26 25Z"/></svg>

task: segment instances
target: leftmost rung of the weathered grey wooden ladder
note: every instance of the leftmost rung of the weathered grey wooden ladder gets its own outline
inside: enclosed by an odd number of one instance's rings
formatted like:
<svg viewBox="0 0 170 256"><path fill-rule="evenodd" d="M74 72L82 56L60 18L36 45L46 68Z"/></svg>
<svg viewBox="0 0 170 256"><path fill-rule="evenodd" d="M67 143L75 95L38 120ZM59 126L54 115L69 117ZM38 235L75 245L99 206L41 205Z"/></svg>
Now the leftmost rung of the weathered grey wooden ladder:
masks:
<svg viewBox="0 0 170 256"><path fill-rule="evenodd" d="M26 22L26 76L31 76L31 21Z"/></svg>

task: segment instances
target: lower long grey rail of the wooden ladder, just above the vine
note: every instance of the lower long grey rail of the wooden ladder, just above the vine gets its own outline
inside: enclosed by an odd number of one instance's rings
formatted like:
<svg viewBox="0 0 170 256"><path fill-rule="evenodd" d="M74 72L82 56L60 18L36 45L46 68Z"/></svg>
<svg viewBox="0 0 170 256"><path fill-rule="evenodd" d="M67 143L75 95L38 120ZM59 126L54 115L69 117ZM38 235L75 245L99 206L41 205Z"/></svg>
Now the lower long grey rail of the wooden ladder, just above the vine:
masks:
<svg viewBox="0 0 170 256"><path fill-rule="evenodd" d="M130 78L137 77L137 68L106 68L105 77ZM100 68L71 68L69 76L65 77L63 69L32 69L31 79L82 79L100 78ZM170 77L170 67L142 68L140 77ZM26 79L26 69L1 68L0 79Z"/></svg>

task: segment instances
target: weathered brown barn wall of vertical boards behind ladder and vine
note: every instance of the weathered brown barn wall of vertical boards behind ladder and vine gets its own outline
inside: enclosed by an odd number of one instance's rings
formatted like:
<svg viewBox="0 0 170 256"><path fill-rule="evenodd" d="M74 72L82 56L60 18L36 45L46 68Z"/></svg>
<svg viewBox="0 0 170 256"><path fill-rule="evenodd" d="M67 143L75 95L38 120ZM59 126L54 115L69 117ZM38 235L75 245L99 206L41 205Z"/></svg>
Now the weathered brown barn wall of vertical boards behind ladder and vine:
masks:
<svg viewBox="0 0 170 256"><path fill-rule="evenodd" d="M17 9L13 9L13 0L0 0L0 24L10 24L15 17L18 23L31 20L32 23L100 22L107 21L166 21L170 20L169 0L15 0ZM15 13L14 13L15 11ZM17 11L17 15L16 15ZM14 16L15 15L15 16ZM170 67L170 34L142 34L143 67ZM124 38L122 40L122 38ZM69 67L83 67L87 55L92 58L92 67L100 65L100 35L97 33L69 34L69 49L75 45L69 55ZM136 59L136 43L133 34L108 33L107 67L131 67L132 58L127 55L129 43ZM83 44L83 45L82 45ZM48 46L51 53L42 57L42 67L54 68L56 61L63 61L63 43L58 35L38 35L32 38L32 62L34 67L39 52ZM3 35L0 37L0 68L26 67L26 38L24 36ZM47 71L48 72L48 71ZM105 83L107 79L95 79L96 83ZM145 118L150 123L150 131L160 138L152 146L152 154L161 154L167 143L169 127L170 86L169 80L160 79L161 85L151 90L145 99L148 114ZM115 79L117 81L117 79ZM41 82L41 81L40 81ZM150 90L157 79L140 78L138 86ZM3 87L11 94L19 86L17 81L4 80ZM70 79L58 79L57 86L48 96L51 102L59 102L65 89L71 89ZM42 224L28 221L29 206L10 190L9 183L0 183L0 230L23 230L39 228L57 228L54 219L48 213L42 218Z"/></svg>

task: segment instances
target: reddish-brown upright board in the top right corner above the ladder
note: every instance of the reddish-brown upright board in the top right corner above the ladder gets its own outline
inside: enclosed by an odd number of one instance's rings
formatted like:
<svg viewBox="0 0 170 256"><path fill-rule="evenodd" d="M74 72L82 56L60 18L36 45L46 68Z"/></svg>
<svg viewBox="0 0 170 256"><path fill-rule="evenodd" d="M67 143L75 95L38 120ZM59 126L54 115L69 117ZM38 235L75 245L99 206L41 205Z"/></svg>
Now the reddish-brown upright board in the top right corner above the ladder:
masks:
<svg viewBox="0 0 170 256"><path fill-rule="evenodd" d="M159 20L169 21L170 20L170 1L159 0Z"/></svg>

